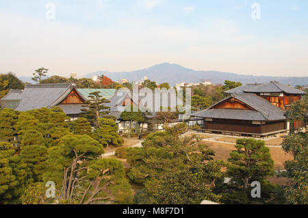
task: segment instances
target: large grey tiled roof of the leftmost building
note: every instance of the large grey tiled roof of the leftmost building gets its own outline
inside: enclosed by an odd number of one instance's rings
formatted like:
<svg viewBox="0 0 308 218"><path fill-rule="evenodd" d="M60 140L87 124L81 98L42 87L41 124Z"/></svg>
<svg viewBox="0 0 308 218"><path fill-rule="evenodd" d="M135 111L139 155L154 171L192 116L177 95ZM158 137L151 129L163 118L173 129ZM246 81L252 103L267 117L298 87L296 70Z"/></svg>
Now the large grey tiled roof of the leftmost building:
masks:
<svg viewBox="0 0 308 218"><path fill-rule="evenodd" d="M28 85L24 90L18 92L16 90L11 91L9 93L10 95L6 95L4 99L0 101L18 101L19 104L14 109L19 111L51 108L52 106L60 104L74 88L75 84ZM86 100L82 95L80 96L82 99Z"/></svg>

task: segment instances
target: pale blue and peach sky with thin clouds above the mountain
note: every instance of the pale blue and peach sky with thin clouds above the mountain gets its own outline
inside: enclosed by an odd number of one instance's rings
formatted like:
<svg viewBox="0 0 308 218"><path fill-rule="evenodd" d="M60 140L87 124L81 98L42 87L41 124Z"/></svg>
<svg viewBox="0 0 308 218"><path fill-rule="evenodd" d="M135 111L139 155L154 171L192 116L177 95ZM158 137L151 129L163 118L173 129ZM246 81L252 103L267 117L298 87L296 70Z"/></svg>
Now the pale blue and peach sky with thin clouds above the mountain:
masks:
<svg viewBox="0 0 308 218"><path fill-rule="evenodd" d="M307 0L0 0L0 72L308 76Z"/></svg>

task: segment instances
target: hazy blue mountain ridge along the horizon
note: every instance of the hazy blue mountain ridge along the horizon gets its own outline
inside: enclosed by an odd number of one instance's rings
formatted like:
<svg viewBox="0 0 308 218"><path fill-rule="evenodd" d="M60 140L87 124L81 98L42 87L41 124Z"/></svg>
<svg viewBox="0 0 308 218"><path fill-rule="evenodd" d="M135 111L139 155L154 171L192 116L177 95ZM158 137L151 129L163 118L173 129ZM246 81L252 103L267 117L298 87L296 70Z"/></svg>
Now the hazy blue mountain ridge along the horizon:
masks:
<svg viewBox="0 0 308 218"><path fill-rule="evenodd" d="M117 81L121 79L127 79L129 81L140 81L143 77L148 77L149 80L156 81L158 83L168 82L170 85L175 86L181 82L201 82L202 80L211 81L214 84L223 84L224 80L233 80L247 83L266 83L270 81L279 81L283 84L307 85L308 77L272 77L272 76L255 76L255 75L240 75L237 73L225 73L220 71L194 71L192 69L185 68L179 64L157 64L151 66L148 69L142 69L131 72L116 72L110 73L108 71L97 71L89 73L85 77L92 77L93 75L106 75L112 80Z"/></svg>

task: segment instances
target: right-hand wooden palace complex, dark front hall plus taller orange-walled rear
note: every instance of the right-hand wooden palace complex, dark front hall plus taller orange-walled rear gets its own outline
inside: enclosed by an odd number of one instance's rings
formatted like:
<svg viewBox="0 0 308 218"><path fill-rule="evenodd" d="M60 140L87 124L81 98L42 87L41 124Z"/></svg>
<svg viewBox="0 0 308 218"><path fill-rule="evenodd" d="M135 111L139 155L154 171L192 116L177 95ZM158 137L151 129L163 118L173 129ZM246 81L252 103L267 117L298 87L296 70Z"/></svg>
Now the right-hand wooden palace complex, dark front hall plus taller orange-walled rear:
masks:
<svg viewBox="0 0 308 218"><path fill-rule="evenodd" d="M264 137L290 130L284 110L298 101L305 92L279 82L246 84L228 90L231 96L207 110L192 114L203 118L203 131ZM303 128L297 121L291 128Z"/></svg>

